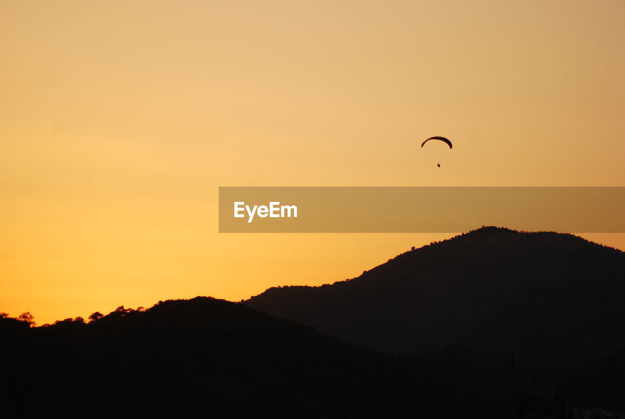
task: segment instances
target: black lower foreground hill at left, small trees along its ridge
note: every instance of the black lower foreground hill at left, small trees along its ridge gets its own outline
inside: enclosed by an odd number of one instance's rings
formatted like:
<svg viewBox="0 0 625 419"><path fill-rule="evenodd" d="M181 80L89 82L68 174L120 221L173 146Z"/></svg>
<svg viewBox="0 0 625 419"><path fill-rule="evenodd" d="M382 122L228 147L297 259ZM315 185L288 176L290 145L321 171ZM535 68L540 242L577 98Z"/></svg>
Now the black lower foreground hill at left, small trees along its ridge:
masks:
<svg viewBox="0 0 625 419"><path fill-rule="evenodd" d="M30 328L2 318L0 336L0 409L12 417L401 418L467 410L464 396L393 356L207 297L120 307L89 323Z"/></svg>

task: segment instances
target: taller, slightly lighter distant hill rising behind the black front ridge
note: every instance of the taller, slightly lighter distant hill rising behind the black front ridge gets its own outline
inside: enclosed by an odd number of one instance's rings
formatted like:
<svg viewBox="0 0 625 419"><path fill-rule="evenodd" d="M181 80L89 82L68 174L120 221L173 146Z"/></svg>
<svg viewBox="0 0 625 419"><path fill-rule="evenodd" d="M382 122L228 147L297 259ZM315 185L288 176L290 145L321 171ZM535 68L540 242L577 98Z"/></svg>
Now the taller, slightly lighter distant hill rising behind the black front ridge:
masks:
<svg viewBox="0 0 625 419"><path fill-rule="evenodd" d="M577 362L625 346L625 253L559 233L484 227L323 286L244 304L387 353L447 346Z"/></svg>

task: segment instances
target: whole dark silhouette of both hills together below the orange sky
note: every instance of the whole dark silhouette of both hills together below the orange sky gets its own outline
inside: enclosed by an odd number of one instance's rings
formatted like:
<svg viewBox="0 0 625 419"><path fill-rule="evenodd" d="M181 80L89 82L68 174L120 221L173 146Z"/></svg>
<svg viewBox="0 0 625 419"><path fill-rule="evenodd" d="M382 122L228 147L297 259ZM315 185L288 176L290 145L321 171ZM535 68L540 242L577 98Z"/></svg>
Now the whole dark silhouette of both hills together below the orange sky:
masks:
<svg viewBox="0 0 625 419"><path fill-rule="evenodd" d="M352 280L244 303L159 301L39 327L2 313L0 408L81 418L625 410L624 262L576 236L485 227Z"/></svg>

